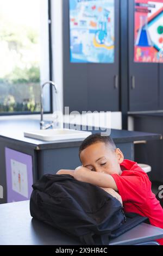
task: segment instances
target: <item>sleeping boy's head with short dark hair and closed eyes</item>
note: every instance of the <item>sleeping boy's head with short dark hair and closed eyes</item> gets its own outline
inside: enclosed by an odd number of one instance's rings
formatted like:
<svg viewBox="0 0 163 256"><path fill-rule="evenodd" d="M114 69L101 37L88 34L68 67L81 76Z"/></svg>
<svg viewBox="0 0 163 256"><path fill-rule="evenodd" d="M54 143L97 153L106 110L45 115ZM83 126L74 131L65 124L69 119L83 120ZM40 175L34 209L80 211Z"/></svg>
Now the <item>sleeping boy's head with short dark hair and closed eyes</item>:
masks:
<svg viewBox="0 0 163 256"><path fill-rule="evenodd" d="M98 133L84 139L79 148L79 158L84 167L108 174L121 174L120 163L124 159L112 138Z"/></svg>

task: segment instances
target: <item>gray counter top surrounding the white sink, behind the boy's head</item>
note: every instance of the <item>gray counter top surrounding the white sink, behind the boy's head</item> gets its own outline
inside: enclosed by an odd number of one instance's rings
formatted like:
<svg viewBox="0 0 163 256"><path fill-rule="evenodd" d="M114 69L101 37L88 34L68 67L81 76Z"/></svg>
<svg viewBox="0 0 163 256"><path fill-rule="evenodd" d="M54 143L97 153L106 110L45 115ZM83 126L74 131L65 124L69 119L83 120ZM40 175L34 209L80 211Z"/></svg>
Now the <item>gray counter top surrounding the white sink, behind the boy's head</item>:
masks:
<svg viewBox="0 0 163 256"><path fill-rule="evenodd" d="M27 143L28 147L35 150L54 149L54 148L70 148L79 147L83 139L73 139L58 142L46 142L38 139L24 137L24 131L31 131L40 129L39 120L33 119L14 119L14 120L0 120L0 138L15 140L17 144ZM87 128L87 131L92 131ZM102 130L93 129L92 133L103 132ZM147 133L126 130L111 130L111 137L115 143L127 143L134 141L151 141L159 140L162 136L158 133Z"/></svg>

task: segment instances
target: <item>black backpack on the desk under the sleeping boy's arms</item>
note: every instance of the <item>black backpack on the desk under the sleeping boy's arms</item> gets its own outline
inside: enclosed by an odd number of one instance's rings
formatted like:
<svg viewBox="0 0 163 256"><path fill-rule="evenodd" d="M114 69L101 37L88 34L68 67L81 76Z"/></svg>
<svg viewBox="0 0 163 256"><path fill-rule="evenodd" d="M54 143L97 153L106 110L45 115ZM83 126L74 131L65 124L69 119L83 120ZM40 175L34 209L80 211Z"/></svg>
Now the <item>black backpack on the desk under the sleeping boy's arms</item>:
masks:
<svg viewBox="0 0 163 256"><path fill-rule="evenodd" d="M111 194L67 174L46 174L33 184L30 214L78 237L83 245L108 245L109 239L146 220L139 215L126 218Z"/></svg>

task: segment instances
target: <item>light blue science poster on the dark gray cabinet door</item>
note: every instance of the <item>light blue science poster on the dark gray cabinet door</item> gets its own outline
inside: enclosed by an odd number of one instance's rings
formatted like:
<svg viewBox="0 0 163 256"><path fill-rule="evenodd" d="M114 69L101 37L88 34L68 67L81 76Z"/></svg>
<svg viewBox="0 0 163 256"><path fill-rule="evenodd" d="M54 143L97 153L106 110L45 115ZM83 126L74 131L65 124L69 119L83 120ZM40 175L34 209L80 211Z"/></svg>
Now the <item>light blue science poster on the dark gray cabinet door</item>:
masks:
<svg viewBox="0 0 163 256"><path fill-rule="evenodd" d="M114 0L69 0L70 62L114 63Z"/></svg>

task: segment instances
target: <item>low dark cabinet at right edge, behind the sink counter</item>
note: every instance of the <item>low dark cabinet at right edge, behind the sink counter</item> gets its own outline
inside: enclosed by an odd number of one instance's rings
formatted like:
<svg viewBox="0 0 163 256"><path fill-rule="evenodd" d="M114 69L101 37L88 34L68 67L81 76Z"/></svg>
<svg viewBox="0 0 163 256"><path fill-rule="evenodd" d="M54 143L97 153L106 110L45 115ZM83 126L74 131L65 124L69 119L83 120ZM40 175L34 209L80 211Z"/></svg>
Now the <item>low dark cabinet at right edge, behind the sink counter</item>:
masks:
<svg viewBox="0 0 163 256"><path fill-rule="evenodd" d="M163 134L163 113L135 114L134 130L143 132L159 132ZM163 182L163 141L138 144L135 147L135 161L147 163L152 167L149 178L152 181Z"/></svg>

